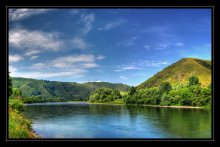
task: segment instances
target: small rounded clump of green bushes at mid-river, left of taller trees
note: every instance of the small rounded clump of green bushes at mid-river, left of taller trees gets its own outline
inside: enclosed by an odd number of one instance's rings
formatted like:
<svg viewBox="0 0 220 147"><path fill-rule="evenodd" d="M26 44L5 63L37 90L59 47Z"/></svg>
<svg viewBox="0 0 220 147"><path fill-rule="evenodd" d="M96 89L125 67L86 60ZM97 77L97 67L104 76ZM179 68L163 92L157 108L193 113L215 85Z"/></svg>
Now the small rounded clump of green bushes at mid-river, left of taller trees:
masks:
<svg viewBox="0 0 220 147"><path fill-rule="evenodd" d="M92 92L89 96L89 102L106 103L122 100L121 94L118 90L100 88Z"/></svg>

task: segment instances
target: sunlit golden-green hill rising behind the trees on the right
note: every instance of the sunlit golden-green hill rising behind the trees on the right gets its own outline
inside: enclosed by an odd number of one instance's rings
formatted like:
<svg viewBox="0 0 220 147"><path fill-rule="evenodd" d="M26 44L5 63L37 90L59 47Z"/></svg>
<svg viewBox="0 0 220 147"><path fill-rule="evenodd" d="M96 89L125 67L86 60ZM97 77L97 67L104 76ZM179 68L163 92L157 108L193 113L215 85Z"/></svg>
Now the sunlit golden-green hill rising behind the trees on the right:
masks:
<svg viewBox="0 0 220 147"><path fill-rule="evenodd" d="M138 85L137 89L155 87L165 81L172 85L187 83L192 75L199 78L202 86L208 86L211 82L211 69L210 60L183 58Z"/></svg>

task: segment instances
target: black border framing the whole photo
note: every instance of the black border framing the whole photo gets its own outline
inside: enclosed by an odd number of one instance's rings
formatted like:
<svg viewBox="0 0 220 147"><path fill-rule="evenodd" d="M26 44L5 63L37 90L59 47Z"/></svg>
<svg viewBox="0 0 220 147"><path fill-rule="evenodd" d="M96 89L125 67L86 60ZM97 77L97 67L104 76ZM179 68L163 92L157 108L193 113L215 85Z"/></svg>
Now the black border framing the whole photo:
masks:
<svg viewBox="0 0 220 147"><path fill-rule="evenodd" d="M7 77L8 77L8 9L9 8L211 8L212 9L212 137L211 139L8 139L8 125L7 125L7 120L8 120L8 113L7 113ZM217 92L218 89L216 87L217 85L217 76L214 75L219 75L217 73L217 68L216 64L218 63L217 61L217 17L219 17L219 11L218 11L218 6L217 2L215 0L182 0L182 1L174 1L173 0L152 0L152 1L123 1L121 0L121 3L116 3L116 1L98 1L98 0L93 0L90 1L88 0L85 2L84 0L80 1L75 1L75 2L70 2L70 0L62 0L62 1L50 1L50 0L44 0L44 1L24 1L24 0L18 0L18 1L13 1L13 0L3 0L3 2L0 2L0 14L1 16L1 41L2 44L4 44L3 48L1 49L1 63L3 64L1 67L3 67L4 72L1 72L1 78L2 78L2 84L1 84L1 95L3 96L3 102L1 102L1 141L9 143L9 142L69 142L69 141L135 141L135 142L202 142L203 143L211 143L212 145L215 144L217 141L217 132L216 130L219 130L217 128L219 124L217 123L217 119L215 119L216 113L218 114L218 110L216 107L217 104L219 104L219 100ZM4 23L3 23L4 22ZM5 84L3 84L5 83ZM5 121L3 121L5 120ZM204 144L205 145L205 144Z"/></svg>

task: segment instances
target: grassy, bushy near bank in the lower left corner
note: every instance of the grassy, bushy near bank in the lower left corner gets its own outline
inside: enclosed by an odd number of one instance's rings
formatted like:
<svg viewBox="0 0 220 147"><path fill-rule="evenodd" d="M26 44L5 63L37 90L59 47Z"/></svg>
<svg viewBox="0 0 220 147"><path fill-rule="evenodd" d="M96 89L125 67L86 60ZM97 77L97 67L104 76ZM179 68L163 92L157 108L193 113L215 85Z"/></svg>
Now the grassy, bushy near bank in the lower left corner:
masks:
<svg viewBox="0 0 220 147"><path fill-rule="evenodd" d="M23 103L19 99L9 99L8 137L9 139L40 138L31 128L31 122L23 114Z"/></svg>

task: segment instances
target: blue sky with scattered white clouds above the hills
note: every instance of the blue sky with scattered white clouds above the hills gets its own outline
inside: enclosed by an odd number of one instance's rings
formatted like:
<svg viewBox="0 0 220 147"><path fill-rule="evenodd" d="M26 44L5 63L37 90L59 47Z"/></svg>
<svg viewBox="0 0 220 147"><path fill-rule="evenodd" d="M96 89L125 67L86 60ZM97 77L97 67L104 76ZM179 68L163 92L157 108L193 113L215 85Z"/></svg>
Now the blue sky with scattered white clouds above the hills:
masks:
<svg viewBox="0 0 220 147"><path fill-rule="evenodd" d="M211 60L211 9L9 9L12 77L138 85Z"/></svg>

